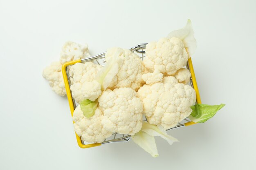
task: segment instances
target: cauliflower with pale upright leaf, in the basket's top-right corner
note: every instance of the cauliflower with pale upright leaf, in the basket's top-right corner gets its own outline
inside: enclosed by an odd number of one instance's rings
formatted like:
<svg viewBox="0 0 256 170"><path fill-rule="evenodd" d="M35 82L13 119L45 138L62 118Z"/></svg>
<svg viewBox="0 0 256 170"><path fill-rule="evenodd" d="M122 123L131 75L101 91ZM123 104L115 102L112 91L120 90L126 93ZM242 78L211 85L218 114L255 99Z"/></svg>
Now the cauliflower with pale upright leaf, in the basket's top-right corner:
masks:
<svg viewBox="0 0 256 170"><path fill-rule="evenodd" d="M166 38L146 45L144 64L150 72L158 69L164 75L173 75L185 66L196 49L191 21L182 29L172 31Z"/></svg>

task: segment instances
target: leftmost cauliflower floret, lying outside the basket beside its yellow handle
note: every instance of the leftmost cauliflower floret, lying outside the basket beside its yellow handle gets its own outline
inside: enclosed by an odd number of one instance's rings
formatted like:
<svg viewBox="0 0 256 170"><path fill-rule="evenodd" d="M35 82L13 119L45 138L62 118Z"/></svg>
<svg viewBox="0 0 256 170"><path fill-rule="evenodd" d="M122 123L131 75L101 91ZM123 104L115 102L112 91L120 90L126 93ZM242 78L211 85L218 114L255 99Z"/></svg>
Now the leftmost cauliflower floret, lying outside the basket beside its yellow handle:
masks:
<svg viewBox="0 0 256 170"><path fill-rule="evenodd" d="M43 70L43 77L49 81L49 85L52 87L52 90L60 96L65 96L65 84L61 72L61 63L52 62L50 66L47 66Z"/></svg>

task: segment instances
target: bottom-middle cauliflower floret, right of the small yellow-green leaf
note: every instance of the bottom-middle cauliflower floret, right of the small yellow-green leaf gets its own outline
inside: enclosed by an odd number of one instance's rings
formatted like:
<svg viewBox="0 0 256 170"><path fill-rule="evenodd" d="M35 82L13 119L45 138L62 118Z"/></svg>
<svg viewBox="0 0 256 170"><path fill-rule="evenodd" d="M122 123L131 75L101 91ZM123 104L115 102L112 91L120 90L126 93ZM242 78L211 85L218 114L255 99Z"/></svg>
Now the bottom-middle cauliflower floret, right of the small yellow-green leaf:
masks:
<svg viewBox="0 0 256 170"><path fill-rule="evenodd" d="M98 98L104 116L101 121L110 132L134 135L142 126L143 104L132 88L107 89Z"/></svg>

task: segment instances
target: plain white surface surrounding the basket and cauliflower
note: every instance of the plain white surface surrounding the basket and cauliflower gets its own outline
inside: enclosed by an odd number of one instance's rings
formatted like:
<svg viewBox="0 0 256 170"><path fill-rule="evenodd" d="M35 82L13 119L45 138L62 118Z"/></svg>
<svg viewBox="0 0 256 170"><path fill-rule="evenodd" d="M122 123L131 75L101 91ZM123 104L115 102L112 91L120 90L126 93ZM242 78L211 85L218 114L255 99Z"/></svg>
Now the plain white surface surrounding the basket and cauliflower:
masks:
<svg viewBox="0 0 256 170"><path fill-rule="evenodd" d="M256 1L0 0L1 170L253 169ZM92 55L158 40L191 19L202 102L226 106L204 124L157 138L152 158L132 141L81 149L65 97L41 73L67 40Z"/></svg>

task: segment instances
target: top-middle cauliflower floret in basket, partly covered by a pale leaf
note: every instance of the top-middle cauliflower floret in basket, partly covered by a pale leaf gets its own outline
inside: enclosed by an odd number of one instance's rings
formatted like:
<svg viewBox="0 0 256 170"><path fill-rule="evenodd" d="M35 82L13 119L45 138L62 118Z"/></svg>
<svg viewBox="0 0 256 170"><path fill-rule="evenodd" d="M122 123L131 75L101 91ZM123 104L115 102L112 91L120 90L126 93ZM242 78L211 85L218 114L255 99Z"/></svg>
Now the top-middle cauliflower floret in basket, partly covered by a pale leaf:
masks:
<svg viewBox="0 0 256 170"><path fill-rule="evenodd" d="M143 62L137 54L132 53L130 50L118 47L111 48L107 51L106 62L115 55L118 55L121 60L119 71L112 79L109 88L130 87L137 91L144 84L144 81L141 78L142 74L146 73Z"/></svg>

